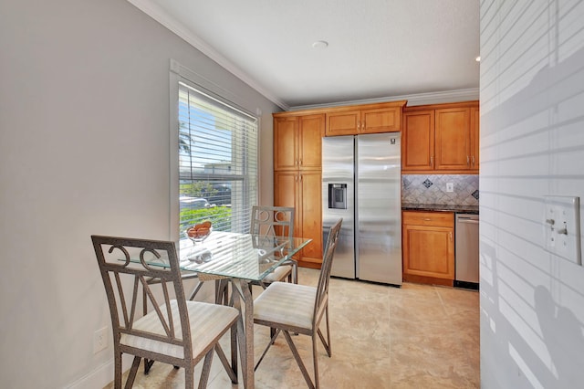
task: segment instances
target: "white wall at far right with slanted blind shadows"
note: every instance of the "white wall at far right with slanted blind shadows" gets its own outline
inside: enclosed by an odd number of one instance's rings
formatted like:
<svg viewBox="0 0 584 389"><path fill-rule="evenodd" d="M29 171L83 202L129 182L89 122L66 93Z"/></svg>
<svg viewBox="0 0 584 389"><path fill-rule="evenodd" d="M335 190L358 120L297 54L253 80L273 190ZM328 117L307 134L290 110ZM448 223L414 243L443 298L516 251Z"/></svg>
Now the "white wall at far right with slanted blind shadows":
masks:
<svg viewBox="0 0 584 389"><path fill-rule="evenodd" d="M482 386L582 387L584 268L543 196L584 200L584 2L482 1L481 58Z"/></svg>

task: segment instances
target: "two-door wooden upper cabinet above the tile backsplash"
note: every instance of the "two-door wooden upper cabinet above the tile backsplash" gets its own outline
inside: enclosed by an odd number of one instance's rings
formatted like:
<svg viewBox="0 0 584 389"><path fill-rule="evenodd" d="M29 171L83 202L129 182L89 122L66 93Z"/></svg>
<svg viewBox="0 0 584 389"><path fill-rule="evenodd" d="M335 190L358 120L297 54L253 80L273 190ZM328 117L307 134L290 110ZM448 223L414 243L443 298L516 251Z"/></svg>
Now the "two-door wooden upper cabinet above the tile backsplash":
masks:
<svg viewBox="0 0 584 389"><path fill-rule="evenodd" d="M478 101L403 112L403 173L478 173Z"/></svg>

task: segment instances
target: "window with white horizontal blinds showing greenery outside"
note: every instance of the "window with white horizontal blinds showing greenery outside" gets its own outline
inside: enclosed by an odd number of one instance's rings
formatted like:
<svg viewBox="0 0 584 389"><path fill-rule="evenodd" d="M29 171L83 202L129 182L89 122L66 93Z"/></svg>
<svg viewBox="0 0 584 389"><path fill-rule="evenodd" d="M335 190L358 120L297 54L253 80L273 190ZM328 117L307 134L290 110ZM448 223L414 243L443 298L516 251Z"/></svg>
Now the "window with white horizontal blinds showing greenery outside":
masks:
<svg viewBox="0 0 584 389"><path fill-rule="evenodd" d="M180 238L203 220L214 230L247 232L257 204L258 120L203 89L178 84Z"/></svg>

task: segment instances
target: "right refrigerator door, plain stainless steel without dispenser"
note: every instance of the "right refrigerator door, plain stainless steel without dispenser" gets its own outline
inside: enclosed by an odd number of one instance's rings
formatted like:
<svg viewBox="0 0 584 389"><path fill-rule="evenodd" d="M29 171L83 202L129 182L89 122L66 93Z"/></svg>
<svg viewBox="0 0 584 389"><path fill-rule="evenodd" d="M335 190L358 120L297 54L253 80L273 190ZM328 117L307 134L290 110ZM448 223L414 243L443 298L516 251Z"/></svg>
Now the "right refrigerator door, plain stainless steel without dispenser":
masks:
<svg viewBox="0 0 584 389"><path fill-rule="evenodd" d="M356 140L357 278L401 285L399 132Z"/></svg>

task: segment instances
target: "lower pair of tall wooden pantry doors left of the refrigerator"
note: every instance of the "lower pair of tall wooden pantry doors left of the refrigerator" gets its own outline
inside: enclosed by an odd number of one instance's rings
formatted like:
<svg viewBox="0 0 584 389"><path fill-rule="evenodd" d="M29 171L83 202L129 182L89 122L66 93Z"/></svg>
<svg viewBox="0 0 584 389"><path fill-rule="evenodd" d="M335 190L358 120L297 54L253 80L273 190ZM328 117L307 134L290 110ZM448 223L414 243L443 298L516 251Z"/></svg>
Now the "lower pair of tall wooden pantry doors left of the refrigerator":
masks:
<svg viewBox="0 0 584 389"><path fill-rule="evenodd" d="M274 173L274 205L296 209L294 235L312 242L297 255L298 265L320 268L322 264L322 201L320 171Z"/></svg>

